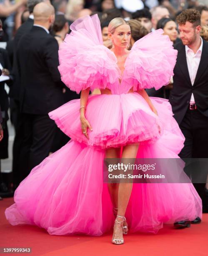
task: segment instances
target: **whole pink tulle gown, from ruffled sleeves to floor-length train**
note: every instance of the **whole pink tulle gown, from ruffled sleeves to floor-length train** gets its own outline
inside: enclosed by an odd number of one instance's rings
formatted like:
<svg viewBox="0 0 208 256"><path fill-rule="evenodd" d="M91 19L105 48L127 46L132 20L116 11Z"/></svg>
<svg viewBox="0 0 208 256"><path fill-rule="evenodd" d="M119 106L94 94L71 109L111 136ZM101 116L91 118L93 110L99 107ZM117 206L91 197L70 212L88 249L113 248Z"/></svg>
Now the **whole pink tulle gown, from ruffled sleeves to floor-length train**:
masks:
<svg viewBox="0 0 208 256"><path fill-rule="evenodd" d="M108 185L103 183L106 148L140 142L138 158L178 158L183 148L168 100L151 97L157 116L136 92L168 84L177 51L163 30L150 33L134 44L121 76L114 53L103 46L97 15L80 18L70 28L59 50L63 82L78 93L88 87L108 88L112 95L89 96L89 140L80 126L80 100L49 113L72 140L20 183L5 215L12 225L38 225L52 235L100 236L114 222ZM134 92L128 93L131 87ZM201 218L202 204L191 183L138 183L133 184L125 216L130 232L157 233L163 223Z"/></svg>

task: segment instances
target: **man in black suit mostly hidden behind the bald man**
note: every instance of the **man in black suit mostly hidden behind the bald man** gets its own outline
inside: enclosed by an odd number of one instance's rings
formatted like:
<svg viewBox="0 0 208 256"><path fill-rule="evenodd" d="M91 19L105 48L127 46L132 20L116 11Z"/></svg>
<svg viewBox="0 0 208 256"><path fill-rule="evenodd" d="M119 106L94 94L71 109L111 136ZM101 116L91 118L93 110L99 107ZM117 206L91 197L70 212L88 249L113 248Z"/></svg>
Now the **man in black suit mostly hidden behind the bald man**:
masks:
<svg viewBox="0 0 208 256"><path fill-rule="evenodd" d="M33 28L33 9L35 5L38 3L43 2L44 0L28 0L27 6L28 10L30 12L30 16L28 20L23 23L23 25L18 28L18 31L15 34L14 38L14 49L13 49L13 70L12 75L14 77L14 83L13 86L10 88L9 96L12 101L14 115L14 126L15 126L15 140L13 144L13 183L14 187L18 187L19 183L24 179L24 175L22 175L22 169L20 168L20 159L22 146L23 145L23 115L20 113L20 77L19 77L19 71L17 66L17 46L20 41L20 38L25 35L25 33L28 33L31 28ZM45 2L50 3L50 0L45 0ZM24 46L23 46L24 47Z"/></svg>

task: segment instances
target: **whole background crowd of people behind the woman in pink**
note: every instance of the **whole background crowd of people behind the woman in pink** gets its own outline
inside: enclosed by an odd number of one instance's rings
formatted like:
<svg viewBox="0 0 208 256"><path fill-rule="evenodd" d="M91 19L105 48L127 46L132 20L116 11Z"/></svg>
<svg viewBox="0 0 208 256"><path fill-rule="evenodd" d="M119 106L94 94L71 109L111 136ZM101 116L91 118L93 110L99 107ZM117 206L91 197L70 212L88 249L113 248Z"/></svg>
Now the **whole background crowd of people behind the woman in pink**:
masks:
<svg viewBox="0 0 208 256"><path fill-rule="evenodd" d="M131 28L129 50L135 41L156 29L163 29L164 34L169 36L178 50L175 76L170 79L168 85L159 90L151 88L146 89L146 92L149 96L170 99L175 118L186 138L180 156L207 158L207 2L53 0L50 3L50 0L20 0L11 4L5 0L0 4L0 40L7 42L6 49L0 49L0 67L5 76L0 82L0 159L8 158L7 122L10 118L15 128L13 191L33 167L70 139L48 116L50 111L60 105L80 97L70 91L60 79L57 68L58 49L65 36L70 33L70 24L73 21L95 13L100 19L103 44L109 49L113 45L108 38L108 25L110 20L116 17L124 18ZM181 16L181 13L184 10L187 10L185 15L188 22L200 26L199 36L192 35L191 32L188 34L190 28L183 27L184 15ZM185 51L182 48L183 44L186 45ZM193 46L192 49L188 48L189 44ZM201 46L197 48L198 44ZM188 68L185 67L186 61ZM10 87L9 94L5 90L5 83ZM183 84L187 84L187 90L181 89ZM92 93L99 94L100 90L95 89ZM192 112L192 108L199 111ZM11 191L10 185L5 184L0 173L2 197ZM208 185L195 185L203 199L204 211L207 212Z"/></svg>

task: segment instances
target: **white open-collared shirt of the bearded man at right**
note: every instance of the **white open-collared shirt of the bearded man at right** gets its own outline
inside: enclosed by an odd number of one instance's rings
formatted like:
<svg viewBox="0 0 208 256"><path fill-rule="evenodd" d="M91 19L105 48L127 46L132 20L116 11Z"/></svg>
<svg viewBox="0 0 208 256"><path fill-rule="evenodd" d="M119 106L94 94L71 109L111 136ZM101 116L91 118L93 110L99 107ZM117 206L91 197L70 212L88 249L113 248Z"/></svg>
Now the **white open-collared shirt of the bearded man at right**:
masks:
<svg viewBox="0 0 208 256"><path fill-rule="evenodd" d="M190 49L187 45L185 46L185 54L186 54L186 61L187 61L187 66L188 66L188 73L189 73L189 77L190 77L192 86L194 84L196 73L197 73L198 66L199 66L199 62L201 59L202 47L203 47L202 38L201 38L201 45L195 54L192 49ZM190 97L190 103L195 103L193 93L191 94L191 97Z"/></svg>

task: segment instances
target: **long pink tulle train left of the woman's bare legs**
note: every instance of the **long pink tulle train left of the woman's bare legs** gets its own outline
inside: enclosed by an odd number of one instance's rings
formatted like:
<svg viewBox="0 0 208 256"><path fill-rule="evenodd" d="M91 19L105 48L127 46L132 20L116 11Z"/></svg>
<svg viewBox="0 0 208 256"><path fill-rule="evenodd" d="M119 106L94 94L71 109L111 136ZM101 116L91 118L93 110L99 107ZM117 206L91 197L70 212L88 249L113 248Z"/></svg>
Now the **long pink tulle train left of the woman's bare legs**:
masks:
<svg viewBox="0 0 208 256"><path fill-rule="evenodd" d="M12 225L38 225L50 234L101 235L110 228L112 218L102 183L103 155L103 151L70 141L20 183L6 218Z"/></svg>

